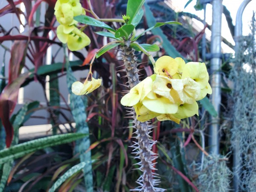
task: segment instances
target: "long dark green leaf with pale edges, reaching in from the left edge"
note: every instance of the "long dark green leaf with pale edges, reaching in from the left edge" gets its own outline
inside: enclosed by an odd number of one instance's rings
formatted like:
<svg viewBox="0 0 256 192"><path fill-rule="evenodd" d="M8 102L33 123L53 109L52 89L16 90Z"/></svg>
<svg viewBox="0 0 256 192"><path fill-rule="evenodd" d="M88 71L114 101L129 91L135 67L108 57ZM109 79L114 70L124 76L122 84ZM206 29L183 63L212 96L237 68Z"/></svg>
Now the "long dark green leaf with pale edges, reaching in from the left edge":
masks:
<svg viewBox="0 0 256 192"><path fill-rule="evenodd" d="M10 160L17 159L19 157L23 157L26 154L29 154L33 151L51 147L54 145L60 145L63 143L69 143L71 141L81 139L85 137L86 134L80 133L69 133L69 134L61 134L55 136L44 137L32 141L28 141L25 143L20 143L15 146L11 146L9 148L5 148L0 151L0 164L6 163Z"/></svg>

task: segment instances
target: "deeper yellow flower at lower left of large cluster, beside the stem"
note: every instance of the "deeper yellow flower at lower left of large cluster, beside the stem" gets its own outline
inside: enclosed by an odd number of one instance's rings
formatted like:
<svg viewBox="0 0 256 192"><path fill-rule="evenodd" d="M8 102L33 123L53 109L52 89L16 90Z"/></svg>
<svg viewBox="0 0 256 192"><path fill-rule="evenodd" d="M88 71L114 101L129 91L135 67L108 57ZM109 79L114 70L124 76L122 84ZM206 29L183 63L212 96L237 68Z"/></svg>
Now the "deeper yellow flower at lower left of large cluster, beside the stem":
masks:
<svg viewBox="0 0 256 192"><path fill-rule="evenodd" d="M148 121L160 115L159 113L154 113L148 110L148 108L146 108L141 102L138 102L136 105L134 105L134 110L136 112L137 120L140 122Z"/></svg>

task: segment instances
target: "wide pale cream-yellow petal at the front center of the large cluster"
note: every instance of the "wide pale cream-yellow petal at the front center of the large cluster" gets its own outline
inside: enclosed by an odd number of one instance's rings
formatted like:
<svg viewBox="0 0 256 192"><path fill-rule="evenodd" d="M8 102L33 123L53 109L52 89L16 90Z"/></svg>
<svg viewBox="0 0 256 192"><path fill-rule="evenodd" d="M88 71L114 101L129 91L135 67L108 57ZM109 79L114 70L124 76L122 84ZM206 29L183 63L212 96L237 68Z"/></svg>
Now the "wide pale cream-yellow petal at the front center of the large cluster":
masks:
<svg viewBox="0 0 256 192"><path fill-rule="evenodd" d="M160 96L153 91L142 100L142 104L148 110L155 113L176 113L178 105L171 103L168 98Z"/></svg>

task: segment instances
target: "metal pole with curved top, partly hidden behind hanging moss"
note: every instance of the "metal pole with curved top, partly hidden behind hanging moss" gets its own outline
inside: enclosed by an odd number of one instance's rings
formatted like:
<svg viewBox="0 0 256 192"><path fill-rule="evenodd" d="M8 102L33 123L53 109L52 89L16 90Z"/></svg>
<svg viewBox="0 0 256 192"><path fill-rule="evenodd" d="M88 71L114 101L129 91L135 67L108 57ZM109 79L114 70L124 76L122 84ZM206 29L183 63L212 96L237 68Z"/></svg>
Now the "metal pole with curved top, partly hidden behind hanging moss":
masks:
<svg viewBox="0 0 256 192"><path fill-rule="evenodd" d="M243 27L242 27L242 15L244 12L245 7L247 6L248 3L250 3L251 0L244 0L241 5L239 6L239 9L236 13L236 26L235 26L235 56L239 54L239 44L241 43L241 37L242 37L242 32L243 32ZM234 87L237 85L235 84ZM239 164L240 158L239 158L239 139L235 137L235 142L233 144L233 189L235 192L239 191Z"/></svg>

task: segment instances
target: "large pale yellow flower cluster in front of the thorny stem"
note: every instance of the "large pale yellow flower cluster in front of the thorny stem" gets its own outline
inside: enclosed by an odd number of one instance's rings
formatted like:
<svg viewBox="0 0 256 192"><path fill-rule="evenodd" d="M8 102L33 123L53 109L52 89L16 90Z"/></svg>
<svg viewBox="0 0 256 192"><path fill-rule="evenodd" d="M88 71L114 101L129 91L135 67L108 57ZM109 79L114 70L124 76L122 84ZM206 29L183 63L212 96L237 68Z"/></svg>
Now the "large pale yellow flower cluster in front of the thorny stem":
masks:
<svg viewBox="0 0 256 192"><path fill-rule="evenodd" d="M182 58L162 56L154 72L121 99L122 105L134 107L141 122L157 117L180 123L180 119L198 115L196 101L212 94L204 63L185 64Z"/></svg>

